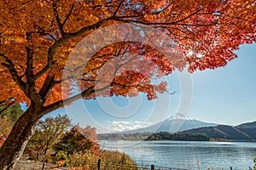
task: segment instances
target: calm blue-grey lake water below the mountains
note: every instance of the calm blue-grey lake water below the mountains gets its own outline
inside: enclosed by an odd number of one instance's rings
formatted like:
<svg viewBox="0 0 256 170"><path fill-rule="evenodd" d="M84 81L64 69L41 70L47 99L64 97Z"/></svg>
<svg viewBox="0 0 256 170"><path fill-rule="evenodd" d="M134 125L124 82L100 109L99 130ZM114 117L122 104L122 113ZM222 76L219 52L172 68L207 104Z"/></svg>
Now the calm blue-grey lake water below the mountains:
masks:
<svg viewBox="0 0 256 170"><path fill-rule="evenodd" d="M138 165L185 169L249 169L256 156L253 142L100 141L106 150L125 152Z"/></svg>

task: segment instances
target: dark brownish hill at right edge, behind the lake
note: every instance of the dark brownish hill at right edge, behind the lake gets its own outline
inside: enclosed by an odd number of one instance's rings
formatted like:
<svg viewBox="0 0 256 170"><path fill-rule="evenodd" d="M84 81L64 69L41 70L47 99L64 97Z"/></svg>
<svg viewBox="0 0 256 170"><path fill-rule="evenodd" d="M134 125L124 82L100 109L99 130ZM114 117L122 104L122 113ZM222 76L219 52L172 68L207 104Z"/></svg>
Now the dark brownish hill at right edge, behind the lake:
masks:
<svg viewBox="0 0 256 170"><path fill-rule="evenodd" d="M215 127L199 127L183 131L207 135L212 139L256 140L256 122L242 123L238 126L218 125Z"/></svg>

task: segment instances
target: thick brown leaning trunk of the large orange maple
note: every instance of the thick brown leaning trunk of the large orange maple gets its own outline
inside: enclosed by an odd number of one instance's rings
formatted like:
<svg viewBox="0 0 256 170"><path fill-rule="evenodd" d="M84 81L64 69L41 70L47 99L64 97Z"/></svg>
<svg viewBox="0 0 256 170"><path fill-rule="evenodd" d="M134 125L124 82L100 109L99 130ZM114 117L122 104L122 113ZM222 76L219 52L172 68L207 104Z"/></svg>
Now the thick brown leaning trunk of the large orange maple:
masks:
<svg viewBox="0 0 256 170"><path fill-rule="evenodd" d="M9 137L0 148L0 170L14 169L20 156L26 148L28 140L34 133L34 128L40 117L37 116L38 109L30 106L22 116L15 122Z"/></svg>

